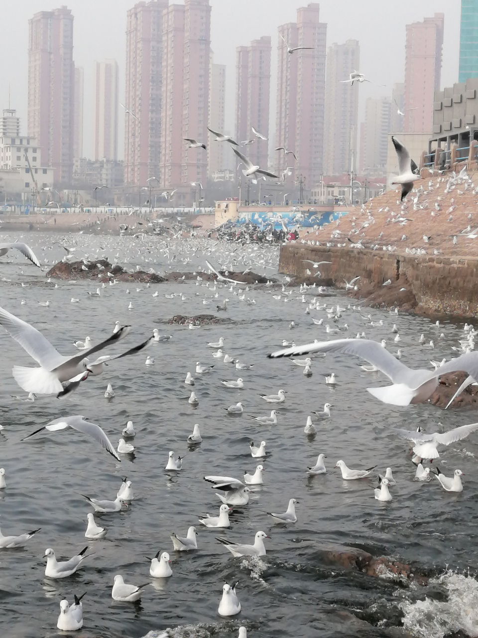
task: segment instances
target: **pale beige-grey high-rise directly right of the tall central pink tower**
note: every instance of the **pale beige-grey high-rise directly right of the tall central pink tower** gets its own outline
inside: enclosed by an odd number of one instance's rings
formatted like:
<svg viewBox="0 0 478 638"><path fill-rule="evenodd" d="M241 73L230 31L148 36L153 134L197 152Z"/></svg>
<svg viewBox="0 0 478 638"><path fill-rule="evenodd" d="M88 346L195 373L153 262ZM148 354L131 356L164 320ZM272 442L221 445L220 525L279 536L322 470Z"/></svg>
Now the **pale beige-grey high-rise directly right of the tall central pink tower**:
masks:
<svg viewBox="0 0 478 638"><path fill-rule="evenodd" d="M359 83L344 82L360 70L357 40L334 43L327 52L324 174L357 171L357 123Z"/></svg>

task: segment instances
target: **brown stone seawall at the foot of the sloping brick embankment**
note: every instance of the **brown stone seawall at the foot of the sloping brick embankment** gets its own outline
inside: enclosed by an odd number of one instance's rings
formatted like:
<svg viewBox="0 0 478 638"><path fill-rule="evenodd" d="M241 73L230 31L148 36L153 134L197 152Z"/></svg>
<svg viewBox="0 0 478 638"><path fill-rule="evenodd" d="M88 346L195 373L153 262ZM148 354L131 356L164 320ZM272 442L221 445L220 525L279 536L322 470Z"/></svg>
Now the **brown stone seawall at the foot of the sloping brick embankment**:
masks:
<svg viewBox="0 0 478 638"><path fill-rule="evenodd" d="M327 248L310 244L287 244L280 247L279 272L296 277L312 262L328 261L319 266L323 278L330 278L339 288L345 279L360 276L359 290L349 291L370 306L408 309L417 314L478 314L478 259L429 255L398 255L354 248ZM383 284L391 279L391 284ZM405 288L405 290L403 290Z"/></svg>

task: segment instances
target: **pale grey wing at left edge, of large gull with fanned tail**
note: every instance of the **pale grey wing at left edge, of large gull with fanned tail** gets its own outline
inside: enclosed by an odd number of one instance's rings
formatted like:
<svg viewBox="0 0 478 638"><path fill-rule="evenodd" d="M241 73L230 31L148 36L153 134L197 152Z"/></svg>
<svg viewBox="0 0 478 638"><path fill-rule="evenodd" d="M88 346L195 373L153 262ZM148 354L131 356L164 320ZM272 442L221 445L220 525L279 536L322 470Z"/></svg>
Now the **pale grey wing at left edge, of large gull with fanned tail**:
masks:
<svg viewBox="0 0 478 638"><path fill-rule="evenodd" d="M62 357L33 325L18 319L3 308L0 308L0 324L40 366L52 370L65 362L66 357ZM84 355L80 360L83 358Z"/></svg>

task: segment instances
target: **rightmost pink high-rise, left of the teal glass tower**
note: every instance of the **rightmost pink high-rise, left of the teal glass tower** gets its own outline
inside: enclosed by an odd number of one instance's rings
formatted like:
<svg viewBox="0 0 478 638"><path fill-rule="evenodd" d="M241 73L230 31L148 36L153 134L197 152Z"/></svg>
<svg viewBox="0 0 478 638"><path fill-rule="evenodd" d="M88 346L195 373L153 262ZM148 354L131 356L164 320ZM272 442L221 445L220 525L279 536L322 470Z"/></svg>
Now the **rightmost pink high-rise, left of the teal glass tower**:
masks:
<svg viewBox="0 0 478 638"><path fill-rule="evenodd" d="M407 24L405 133L431 133L433 94L440 90L444 14Z"/></svg>

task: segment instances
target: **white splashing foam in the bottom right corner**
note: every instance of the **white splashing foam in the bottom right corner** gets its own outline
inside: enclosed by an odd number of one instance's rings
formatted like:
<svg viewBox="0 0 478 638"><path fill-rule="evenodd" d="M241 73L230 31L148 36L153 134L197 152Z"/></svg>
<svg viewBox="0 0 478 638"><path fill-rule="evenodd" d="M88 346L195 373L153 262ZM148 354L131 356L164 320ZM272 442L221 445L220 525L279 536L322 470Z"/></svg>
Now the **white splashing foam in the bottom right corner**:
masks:
<svg viewBox="0 0 478 638"><path fill-rule="evenodd" d="M425 598L417 602L403 602L403 627L420 638L444 638L451 632L462 631L478 636L478 582L471 576L445 572L430 579L448 590L448 600Z"/></svg>

